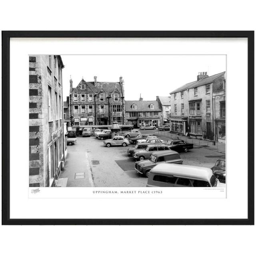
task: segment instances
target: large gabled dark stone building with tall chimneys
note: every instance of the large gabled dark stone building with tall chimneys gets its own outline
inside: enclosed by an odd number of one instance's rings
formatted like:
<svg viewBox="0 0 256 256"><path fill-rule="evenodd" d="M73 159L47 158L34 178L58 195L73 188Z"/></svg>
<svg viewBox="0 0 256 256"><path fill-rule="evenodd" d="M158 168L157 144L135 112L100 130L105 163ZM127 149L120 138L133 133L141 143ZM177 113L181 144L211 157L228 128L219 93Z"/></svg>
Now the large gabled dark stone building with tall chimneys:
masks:
<svg viewBox="0 0 256 256"><path fill-rule="evenodd" d="M70 79L71 126L125 124L124 80L119 82L86 82L84 79L73 88Z"/></svg>

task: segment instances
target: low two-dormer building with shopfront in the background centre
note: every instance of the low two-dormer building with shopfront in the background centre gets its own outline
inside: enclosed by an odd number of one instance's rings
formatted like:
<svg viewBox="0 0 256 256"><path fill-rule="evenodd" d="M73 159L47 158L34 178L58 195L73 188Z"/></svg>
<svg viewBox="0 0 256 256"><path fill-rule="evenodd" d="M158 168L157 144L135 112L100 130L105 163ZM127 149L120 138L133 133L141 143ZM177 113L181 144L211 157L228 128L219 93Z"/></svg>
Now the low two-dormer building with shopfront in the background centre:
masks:
<svg viewBox="0 0 256 256"><path fill-rule="evenodd" d="M132 124L134 128L144 125L162 125L162 107L159 100L126 100L125 102L126 124Z"/></svg>

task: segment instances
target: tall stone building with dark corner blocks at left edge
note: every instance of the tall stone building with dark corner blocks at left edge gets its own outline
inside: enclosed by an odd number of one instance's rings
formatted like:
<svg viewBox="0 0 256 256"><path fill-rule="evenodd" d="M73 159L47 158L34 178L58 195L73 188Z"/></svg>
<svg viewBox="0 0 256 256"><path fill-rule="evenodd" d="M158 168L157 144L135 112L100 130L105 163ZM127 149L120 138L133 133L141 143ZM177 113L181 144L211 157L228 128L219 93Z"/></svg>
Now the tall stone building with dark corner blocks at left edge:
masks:
<svg viewBox="0 0 256 256"><path fill-rule="evenodd" d="M64 160L60 55L29 56L29 186L55 186Z"/></svg>

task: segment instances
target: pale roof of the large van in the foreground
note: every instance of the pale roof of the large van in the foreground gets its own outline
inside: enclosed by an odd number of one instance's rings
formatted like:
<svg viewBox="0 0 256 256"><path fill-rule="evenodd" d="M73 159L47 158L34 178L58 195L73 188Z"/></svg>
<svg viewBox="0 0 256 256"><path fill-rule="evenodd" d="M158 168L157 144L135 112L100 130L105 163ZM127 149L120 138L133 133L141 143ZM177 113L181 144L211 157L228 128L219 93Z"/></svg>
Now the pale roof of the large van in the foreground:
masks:
<svg viewBox="0 0 256 256"><path fill-rule="evenodd" d="M210 168L184 164L157 164L150 172L198 180L210 180L212 177L212 170Z"/></svg>

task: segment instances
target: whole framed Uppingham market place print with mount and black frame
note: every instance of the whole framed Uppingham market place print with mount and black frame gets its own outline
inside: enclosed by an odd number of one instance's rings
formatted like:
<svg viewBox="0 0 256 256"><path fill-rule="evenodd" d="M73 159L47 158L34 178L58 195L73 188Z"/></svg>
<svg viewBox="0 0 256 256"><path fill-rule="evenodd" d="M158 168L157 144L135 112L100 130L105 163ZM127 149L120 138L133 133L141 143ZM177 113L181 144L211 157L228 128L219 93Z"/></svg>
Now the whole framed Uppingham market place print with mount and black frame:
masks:
<svg viewBox="0 0 256 256"><path fill-rule="evenodd" d="M2 131L2 224L252 225L254 32L3 31Z"/></svg>

